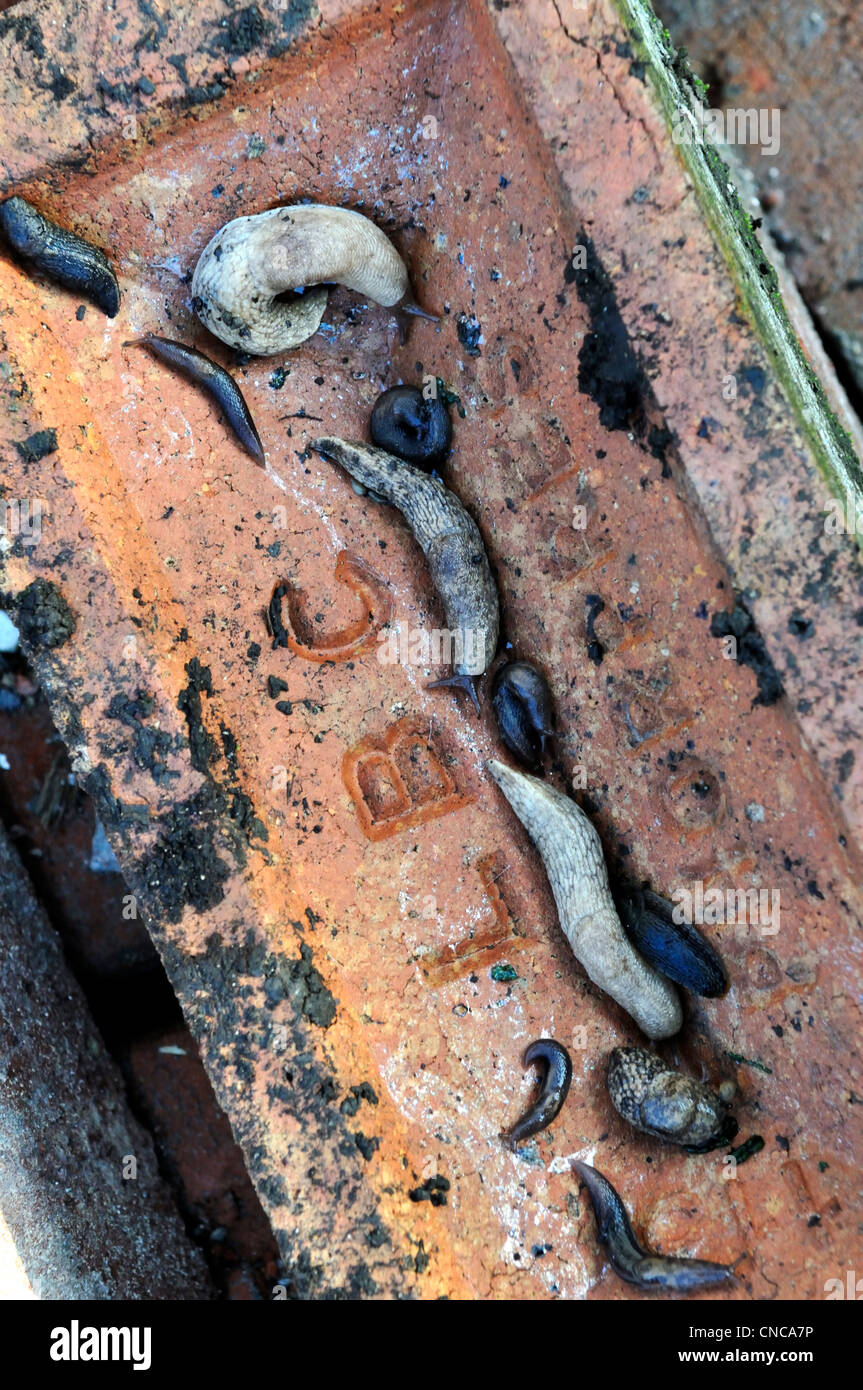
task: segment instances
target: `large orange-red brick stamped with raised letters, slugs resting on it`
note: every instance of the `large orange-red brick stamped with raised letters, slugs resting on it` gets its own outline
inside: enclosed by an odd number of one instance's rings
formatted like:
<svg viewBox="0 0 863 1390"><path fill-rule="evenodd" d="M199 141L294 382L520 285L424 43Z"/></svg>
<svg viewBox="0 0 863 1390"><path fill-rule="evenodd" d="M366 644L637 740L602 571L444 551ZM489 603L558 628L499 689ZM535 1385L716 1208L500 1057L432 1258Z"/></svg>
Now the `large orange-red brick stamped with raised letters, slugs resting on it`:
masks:
<svg viewBox="0 0 863 1390"><path fill-rule="evenodd" d="M26 473L10 453L10 485L50 509L4 584L39 577L75 614L33 659L300 1297L641 1297L603 1277L573 1156L664 1250L745 1250L730 1297L820 1297L853 1259L863 778L839 763L860 577L846 543L827 549L824 484L624 35L591 15L575 7L584 29L567 33L541 3L346 14L229 101L161 110L83 168L51 164L50 183L29 150L10 170L110 243L125 302L113 325L78 321L69 296L0 261L3 434L42 423L60 442ZM50 158L61 122L42 120ZM399 348L338 292L277 388L277 361L238 367L204 338L181 275L227 218L299 196L372 211L442 324ZM471 313L478 356L456 328ZM206 400L124 352L143 329L238 373L267 471ZM381 386L417 370L460 396L447 480L486 539L506 638L549 673L556 784L586 769L613 862L660 890L781 891L778 935L717 929L732 988L689 1005L668 1048L738 1081L743 1134L766 1148L737 1182L610 1112L603 1059L635 1030L568 955L488 781L488 702L475 720L425 692L424 669L377 660L385 621L441 613L400 520L307 452L321 424L303 414L363 434ZM272 648L281 584L290 641ZM757 671L709 634L735 587L760 591ZM766 703L771 653L788 696ZM524 1162L498 1136L543 1031L573 1045L575 1076ZM432 1176L446 1205L417 1200Z"/></svg>

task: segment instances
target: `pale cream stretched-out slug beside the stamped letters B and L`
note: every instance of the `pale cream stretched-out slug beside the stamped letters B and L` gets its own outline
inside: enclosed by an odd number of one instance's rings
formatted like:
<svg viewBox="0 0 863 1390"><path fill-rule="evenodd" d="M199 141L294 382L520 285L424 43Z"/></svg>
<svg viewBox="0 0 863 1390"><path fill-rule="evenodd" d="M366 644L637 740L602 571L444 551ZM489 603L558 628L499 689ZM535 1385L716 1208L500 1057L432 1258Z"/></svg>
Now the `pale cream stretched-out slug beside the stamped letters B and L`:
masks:
<svg viewBox="0 0 863 1390"><path fill-rule="evenodd" d="M593 984L650 1038L680 1030L674 986L632 949L620 924L602 844L581 806L538 777L504 763L488 769L534 841L554 894L560 926Z"/></svg>

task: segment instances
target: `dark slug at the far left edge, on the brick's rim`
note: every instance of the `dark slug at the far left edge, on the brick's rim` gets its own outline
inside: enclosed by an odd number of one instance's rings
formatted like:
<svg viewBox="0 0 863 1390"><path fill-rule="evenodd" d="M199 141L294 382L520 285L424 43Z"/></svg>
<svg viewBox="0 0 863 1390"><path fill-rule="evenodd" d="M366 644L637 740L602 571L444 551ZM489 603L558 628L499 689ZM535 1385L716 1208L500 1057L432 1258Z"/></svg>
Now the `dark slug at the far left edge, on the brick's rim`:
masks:
<svg viewBox="0 0 863 1390"><path fill-rule="evenodd" d="M86 295L108 318L120 311L117 275L99 246L57 227L25 197L0 203L0 227L13 250L49 279Z"/></svg>

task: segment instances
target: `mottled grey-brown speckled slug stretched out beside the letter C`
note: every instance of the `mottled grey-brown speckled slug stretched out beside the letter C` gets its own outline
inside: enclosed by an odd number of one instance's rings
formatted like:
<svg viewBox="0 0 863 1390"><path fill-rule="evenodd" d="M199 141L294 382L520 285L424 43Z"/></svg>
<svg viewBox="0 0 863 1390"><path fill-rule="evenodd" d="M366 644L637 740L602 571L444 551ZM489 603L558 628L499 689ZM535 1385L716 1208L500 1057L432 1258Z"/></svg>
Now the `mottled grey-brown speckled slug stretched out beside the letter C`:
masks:
<svg viewBox="0 0 863 1390"><path fill-rule="evenodd" d="M370 492L397 507L422 548L446 627L453 639L454 671L427 689L464 689L479 713L477 684L498 649L498 589L479 534L454 492L413 463L367 443L324 436L311 448L338 463Z"/></svg>

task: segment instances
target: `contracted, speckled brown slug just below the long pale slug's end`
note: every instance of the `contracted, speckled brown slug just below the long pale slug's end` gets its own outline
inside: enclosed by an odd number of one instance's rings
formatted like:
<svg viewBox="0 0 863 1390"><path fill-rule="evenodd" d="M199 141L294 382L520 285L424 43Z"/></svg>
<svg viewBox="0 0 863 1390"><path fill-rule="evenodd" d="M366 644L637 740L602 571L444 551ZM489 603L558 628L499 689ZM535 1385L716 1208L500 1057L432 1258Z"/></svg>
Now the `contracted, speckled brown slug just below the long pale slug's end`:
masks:
<svg viewBox="0 0 863 1390"><path fill-rule="evenodd" d="M738 1123L707 1086L682 1076L641 1047L616 1047L606 1086L614 1109L630 1125L681 1144L691 1154L730 1144Z"/></svg>

